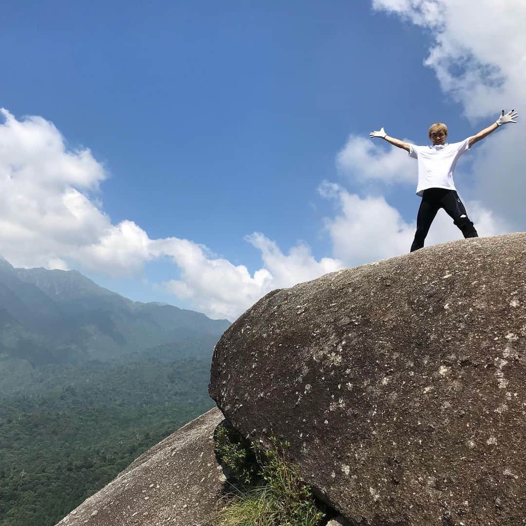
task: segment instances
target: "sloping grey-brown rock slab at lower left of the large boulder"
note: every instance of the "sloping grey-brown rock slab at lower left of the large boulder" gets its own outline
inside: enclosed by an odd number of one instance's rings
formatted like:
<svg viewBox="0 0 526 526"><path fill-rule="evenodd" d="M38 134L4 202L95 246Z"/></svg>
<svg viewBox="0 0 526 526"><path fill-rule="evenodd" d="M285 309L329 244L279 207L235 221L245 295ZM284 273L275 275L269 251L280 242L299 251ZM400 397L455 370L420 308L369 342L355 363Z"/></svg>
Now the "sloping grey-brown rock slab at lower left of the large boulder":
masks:
<svg viewBox="0 0 526 526"><path fill-rule="evenodd" d="M208 526L225 477L212 435L214 408L141 455L56 526Z"/></svg>

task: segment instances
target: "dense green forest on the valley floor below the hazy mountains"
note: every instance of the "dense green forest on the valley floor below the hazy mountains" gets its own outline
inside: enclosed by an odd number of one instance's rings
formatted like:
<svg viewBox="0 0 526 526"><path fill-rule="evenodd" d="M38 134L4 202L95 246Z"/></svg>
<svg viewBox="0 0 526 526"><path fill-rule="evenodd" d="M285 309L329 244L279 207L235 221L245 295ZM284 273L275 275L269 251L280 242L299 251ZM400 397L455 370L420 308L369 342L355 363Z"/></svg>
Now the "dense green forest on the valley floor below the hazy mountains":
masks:
<svg viewBox="0 0 526 526"><path fill-rule="evenodd" d="M21 376L27 385L0 398L0 526L54 525L213 407L210 359L173 356L160 347Z"/></svg>

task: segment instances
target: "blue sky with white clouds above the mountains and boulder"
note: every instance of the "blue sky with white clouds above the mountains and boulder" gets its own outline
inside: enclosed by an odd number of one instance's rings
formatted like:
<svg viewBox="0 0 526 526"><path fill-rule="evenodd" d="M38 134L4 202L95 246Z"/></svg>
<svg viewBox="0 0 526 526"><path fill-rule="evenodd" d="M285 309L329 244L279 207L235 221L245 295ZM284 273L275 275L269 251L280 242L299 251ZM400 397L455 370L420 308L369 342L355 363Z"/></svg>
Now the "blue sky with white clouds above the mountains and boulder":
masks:
<svg viewBox="0 0 526 526"><path fill-rule="evenodd" d="M131 299L232 319L271 288L408 251L416 165L369 131L426 144L428 126L442 121L450 141L461 140L502 107L520 114L523 100L517 74L487 45L499 23L463 41L453 4L4 2L0 106L12 120L4 116L0 153L18 153L0 174L27 164L24 185L4 194L33 185L19 208L34 213L4 212L1 253L17 266L76 268ZM457 18L468 21L467 4ZM520 4L477 6L489 22L516 17ZM517 42L502 62L524 59ZM17 133L30 124L32 133ZM518 140L518 126L495 135ZM494 149L509 143L499 140ZM496 162L491 145L464 156L459 192L482 234L518 230L519 197L510 209L502 185L495 199L489 168L480 176L488 158ZM72 190L84 208L66 235ZM460 237L449 222L437 219L430 243Z"/></svg>

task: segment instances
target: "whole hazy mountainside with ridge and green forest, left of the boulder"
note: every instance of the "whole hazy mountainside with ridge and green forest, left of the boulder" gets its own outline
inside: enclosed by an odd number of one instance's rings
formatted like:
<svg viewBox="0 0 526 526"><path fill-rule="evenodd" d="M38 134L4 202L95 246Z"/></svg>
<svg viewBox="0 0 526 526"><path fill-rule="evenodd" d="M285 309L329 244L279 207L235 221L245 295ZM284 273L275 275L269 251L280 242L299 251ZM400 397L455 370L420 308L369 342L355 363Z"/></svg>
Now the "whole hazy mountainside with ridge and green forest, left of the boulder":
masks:
<svg viewBox="0 0 526 526"><path fill-rule="evenodd" d="M0 526L52 526L211 408L228 325L0 258Z"/></svg>

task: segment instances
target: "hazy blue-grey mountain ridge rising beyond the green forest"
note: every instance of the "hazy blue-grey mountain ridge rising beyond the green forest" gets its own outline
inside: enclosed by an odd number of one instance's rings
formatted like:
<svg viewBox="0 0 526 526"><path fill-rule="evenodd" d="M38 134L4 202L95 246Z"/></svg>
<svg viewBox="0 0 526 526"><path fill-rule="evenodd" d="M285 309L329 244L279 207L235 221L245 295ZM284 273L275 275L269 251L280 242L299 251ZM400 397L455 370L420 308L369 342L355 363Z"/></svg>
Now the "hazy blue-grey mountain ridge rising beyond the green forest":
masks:
<svg viewBox="0 0 526 526"><path fill-rule="evenodd" d="M39 366L167 344L191 348L203 338L210 345L228 326L199 312L131 301L75 270L14 268L0 258L0 360Z"/></svg>

